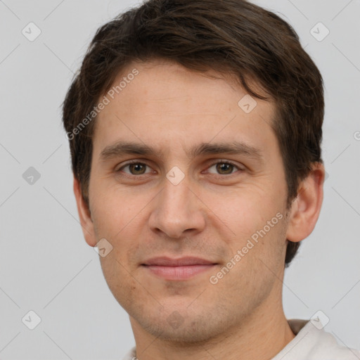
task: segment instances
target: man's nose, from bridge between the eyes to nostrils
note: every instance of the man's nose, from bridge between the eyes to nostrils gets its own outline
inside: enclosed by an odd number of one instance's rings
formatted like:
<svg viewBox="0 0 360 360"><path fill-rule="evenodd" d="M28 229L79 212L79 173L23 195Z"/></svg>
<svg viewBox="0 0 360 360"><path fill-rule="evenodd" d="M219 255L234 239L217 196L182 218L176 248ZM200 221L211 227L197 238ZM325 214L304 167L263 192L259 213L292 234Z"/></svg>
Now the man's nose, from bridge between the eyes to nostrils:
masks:
<svg viewBox="0 0 360 360"><path fill-rule="evenodd" d="M154 199L148 220L150 229L176 239L203 231L206 207L189 188L186 178L177 185L168 179L164 183L164 188Z"/></svg>

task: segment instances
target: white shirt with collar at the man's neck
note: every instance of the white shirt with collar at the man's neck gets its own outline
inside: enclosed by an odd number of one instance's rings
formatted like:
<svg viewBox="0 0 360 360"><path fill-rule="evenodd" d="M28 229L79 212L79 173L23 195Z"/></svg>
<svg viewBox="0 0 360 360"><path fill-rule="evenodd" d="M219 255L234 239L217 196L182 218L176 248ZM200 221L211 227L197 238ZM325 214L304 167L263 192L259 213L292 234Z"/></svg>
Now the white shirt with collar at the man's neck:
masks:
<svg viewBox="0 0 360 360"><path fill-rule="evenodd" d="M271 360L360 360L359 350L339 345L321 321L290 319L288 323L296 336ZM122 360L136 360L136 347Z"/></svg>

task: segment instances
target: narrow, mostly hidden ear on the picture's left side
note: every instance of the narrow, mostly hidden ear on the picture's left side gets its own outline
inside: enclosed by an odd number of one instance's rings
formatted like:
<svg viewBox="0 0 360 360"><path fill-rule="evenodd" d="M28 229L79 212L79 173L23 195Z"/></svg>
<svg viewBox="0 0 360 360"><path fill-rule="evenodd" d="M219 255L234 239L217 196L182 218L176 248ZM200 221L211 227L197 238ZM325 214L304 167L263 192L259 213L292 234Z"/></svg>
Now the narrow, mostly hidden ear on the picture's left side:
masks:
<svg viewBox="0 0 360 360"><path fill-rule="evenodd" d="M79 212L80 224L82 226L82 232L86 243L90 246L96 246L96 235L94 231L94 222L91 219L91 213L89 207L86 205L86 201L82 197L81 186L79 181L74 176L74 193L77 203L77 212Z"/></svg>

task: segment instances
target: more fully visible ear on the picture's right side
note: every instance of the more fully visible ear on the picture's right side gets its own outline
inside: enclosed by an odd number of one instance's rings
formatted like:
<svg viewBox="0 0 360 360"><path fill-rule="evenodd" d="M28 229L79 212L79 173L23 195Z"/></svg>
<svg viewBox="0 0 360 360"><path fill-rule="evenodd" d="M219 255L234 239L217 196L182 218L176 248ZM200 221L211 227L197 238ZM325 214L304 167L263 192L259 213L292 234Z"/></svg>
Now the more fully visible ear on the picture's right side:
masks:
<svg viewBox="0 0 360 360"><path fill-rule="evenodd" d="M297 243L314 230L323 203L323 164L314 163L309 175L301 182L290 209L286 238Z"/></svg>

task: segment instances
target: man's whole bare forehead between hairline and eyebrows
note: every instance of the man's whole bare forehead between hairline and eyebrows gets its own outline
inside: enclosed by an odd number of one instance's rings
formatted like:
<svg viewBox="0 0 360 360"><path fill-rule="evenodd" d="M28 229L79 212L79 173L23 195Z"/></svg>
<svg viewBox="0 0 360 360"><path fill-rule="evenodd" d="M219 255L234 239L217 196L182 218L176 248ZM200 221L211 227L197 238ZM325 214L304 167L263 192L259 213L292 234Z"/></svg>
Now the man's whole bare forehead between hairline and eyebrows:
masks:
<svg viewBox="0 0 360 360"><path fill-rule="evenodd" d="M99 151L129 139L172 148L179 139L183 145L215 138L261 143L266 134L266 140L274 140L269 138L274 103L251 98L233 77L214 70L204 74L167 60L134 62L117 75L110 91L96 119Z"/></svg>

